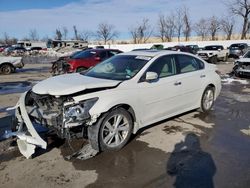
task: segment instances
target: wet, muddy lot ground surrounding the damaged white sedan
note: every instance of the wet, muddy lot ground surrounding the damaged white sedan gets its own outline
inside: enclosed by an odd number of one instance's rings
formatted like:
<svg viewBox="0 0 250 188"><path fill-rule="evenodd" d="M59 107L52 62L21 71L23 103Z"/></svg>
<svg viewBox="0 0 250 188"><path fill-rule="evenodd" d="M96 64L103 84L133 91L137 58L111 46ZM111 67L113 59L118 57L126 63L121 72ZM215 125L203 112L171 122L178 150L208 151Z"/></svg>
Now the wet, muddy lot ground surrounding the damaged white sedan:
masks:
<svg viewBox="0 0 250 188"><path fill-rule="evenodd" d="M0 132L10 125L20 93L50 76L50 65L25 66L0 76ZM51 141L33 159L15 142L0 141L0 187L177 187L248 188L250 185L250 84L225 76L213 110L191 111L152 125L118 152L81 161L66 160L69 144ZM73 150L85 141L73 140Z"/></svg>

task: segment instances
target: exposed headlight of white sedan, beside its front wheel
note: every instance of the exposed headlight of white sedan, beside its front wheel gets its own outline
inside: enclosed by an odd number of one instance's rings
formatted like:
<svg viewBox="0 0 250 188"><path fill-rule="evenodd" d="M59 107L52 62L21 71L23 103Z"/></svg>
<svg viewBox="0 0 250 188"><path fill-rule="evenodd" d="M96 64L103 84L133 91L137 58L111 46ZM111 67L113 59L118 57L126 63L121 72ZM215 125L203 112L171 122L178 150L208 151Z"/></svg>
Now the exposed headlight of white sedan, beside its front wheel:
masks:
<svg viewBox="0 0 250 188"><path fill-rule="evenodd" d="M77 123L90 118L89 110L94 106L98 98L81 101L78 104L69 105L64 108L64 123Z"/></svg>

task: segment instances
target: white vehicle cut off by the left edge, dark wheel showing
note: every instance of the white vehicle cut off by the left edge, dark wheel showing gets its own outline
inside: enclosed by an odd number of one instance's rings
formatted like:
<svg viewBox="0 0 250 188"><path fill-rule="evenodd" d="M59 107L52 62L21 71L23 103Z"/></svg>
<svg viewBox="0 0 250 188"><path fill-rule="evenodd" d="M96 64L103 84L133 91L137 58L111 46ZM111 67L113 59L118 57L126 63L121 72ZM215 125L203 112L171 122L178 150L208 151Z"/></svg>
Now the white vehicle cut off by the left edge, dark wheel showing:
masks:
<svg viewBox="0 0 250 188"><path fill-rule="evenodd" d="M22 57L0 56L0 74L10 74L15 72L16 68L23 68Z"/></svg>

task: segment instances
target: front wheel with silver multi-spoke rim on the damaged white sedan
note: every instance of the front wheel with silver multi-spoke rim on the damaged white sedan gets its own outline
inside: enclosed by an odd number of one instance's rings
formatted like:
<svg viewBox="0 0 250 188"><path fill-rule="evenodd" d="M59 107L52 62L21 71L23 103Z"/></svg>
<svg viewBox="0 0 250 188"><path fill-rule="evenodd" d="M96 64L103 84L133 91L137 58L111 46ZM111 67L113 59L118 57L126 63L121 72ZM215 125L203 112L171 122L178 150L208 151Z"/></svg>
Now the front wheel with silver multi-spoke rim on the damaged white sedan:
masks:
<svg viewBox="0 0 250 188"><path fill-rule="evenodd" d="M100 125L100 150L113 151L123 148L132 134L132 127L131 115L125 109L117 108L109 112Z"/></svg>

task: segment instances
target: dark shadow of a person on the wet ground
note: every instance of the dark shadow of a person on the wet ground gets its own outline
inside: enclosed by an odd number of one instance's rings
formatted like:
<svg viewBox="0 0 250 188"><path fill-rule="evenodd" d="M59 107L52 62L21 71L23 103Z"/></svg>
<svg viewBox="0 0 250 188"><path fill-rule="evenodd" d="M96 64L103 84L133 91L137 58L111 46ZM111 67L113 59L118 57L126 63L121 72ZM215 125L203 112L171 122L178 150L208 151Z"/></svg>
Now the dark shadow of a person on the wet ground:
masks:
<svg viewBox="0 0 250 188"><path fill-rule="evenodd" d="M215 163L209 153L202 151L199 137L194 133L175 144L166 172L176 178L173 184L176 188L214 188Z"/></svg>

